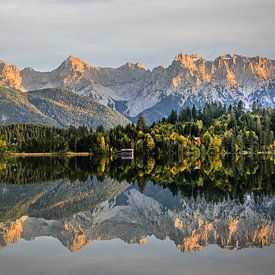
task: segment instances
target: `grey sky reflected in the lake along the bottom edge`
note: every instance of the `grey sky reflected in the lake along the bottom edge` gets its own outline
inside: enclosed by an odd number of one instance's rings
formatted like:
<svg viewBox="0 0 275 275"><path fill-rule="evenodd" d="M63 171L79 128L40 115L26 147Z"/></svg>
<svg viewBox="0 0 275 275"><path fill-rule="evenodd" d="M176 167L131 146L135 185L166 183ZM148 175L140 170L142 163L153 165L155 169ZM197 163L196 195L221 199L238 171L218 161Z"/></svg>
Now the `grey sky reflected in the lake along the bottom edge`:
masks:
<svg viewBox="0 0 275 275"><path fill-rule="evenodd" d="M145 246L115 239L71 253L57 240L42 237L0 250L0 274L273 274L274 255L275 246L228 251L210 245L181 253L170 240L155 237Z"/></svg>

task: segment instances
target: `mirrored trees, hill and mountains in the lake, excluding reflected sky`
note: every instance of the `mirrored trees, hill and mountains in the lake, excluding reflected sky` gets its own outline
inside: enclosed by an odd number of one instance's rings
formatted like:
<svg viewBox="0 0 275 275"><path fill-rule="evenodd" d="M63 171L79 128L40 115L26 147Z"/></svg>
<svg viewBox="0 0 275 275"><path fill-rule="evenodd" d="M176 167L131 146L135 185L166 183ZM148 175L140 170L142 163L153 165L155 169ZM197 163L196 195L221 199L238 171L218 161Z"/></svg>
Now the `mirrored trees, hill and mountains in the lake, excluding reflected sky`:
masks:
<svg viewBox="0 0 275 275"><path fill-rule="evenodd" d="M117 238L146 245L152 236L182 252L275 241L272 156L208 157L200 164L16 158L0 167L2 249L42 236L71 251Z"/></svg>

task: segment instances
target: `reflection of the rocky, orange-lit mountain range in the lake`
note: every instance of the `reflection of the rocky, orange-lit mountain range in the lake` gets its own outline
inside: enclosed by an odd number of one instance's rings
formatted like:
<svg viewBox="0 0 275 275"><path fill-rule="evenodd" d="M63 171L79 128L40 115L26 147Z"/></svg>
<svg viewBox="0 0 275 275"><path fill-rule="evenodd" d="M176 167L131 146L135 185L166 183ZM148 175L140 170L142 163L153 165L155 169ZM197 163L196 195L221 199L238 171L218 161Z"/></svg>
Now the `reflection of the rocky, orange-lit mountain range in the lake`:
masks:
<svg viewBox="0 0 275 275"><path fill-rule="evenodd" d="M209 244L226 249L265 247L275 243L275 198L256 202L247 195L243 203L227 199L207 202L186 198L158 185L143 193L130 187L94 208L61 220L22 217L0 223L0 245L20 238L52 236L71 251L97 240L120 238L146 244L149 236L171 239L183 251L201 250Z"/></svg>

